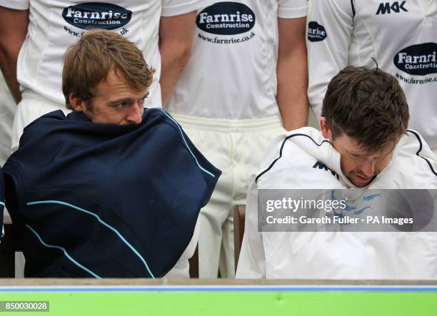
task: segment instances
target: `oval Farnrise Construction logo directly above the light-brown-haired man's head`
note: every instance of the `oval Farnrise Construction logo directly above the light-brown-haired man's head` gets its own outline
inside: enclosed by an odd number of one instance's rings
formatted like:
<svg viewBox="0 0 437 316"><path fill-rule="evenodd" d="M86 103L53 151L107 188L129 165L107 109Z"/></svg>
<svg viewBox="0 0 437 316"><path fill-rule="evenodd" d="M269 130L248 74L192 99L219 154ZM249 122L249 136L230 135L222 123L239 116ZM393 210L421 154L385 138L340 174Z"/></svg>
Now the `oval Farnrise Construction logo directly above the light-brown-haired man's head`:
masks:
<svg viewBox="0 0 437 316"><path fill-rule="evenodd" d="M62 11L64 20L79 29L119 29L131 21L132 11L116 4L89 2L68 6Z"/></svg>

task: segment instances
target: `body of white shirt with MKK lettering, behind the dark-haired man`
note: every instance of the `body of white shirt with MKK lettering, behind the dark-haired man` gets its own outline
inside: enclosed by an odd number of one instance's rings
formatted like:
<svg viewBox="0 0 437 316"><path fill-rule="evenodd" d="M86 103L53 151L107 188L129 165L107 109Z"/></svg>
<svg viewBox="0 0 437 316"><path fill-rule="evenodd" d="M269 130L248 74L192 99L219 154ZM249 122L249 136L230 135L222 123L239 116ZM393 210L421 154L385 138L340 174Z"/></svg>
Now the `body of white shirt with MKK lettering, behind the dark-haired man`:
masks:
<svg viewBox="0 0 437 316"><path fill-rule="evenodd" d="M410 106L409 127L437 147L437 1L353 1L348 64L395 76ZM328 34L335 36L335 34Z"/></svg>

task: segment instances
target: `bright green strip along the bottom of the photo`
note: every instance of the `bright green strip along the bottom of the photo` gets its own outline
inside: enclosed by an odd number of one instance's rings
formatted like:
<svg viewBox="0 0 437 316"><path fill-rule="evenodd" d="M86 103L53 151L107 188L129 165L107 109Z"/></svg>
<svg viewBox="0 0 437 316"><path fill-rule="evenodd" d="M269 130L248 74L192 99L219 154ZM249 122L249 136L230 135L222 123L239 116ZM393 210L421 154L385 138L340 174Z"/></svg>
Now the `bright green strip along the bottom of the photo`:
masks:
<svg viewBox="0 0 437 316"><path fill-rule="evenodd" d="M49 301L49 312L1 315L437 315L436 292L61 292L0 293Z"/></svg>

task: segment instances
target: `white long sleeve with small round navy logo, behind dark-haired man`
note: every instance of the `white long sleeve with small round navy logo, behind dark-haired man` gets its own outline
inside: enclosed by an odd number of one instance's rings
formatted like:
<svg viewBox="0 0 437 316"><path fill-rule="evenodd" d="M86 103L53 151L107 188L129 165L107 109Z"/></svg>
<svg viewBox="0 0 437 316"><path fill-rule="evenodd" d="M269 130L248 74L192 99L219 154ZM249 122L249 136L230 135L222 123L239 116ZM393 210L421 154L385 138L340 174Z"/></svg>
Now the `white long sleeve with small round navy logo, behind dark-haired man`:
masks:
<svg viewBox="0 0 437 316"><path fill-rule="evenodd" d="M351 0L311 0L308 9L308 101L321 116L329 81L347 66L353 32Z"/></svg>

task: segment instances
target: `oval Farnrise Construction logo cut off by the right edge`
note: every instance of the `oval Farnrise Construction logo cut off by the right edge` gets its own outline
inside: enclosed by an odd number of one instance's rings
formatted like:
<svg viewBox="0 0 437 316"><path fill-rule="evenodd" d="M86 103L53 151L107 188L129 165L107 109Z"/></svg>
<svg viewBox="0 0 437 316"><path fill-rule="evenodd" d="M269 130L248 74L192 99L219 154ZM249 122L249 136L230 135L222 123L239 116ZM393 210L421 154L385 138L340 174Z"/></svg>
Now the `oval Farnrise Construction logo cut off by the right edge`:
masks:
<svg viewBox="0 0 437 316"><path fill-rule="evenodd" d="M437 44L423 43L402 49L393 58L398 69L411 75L437 73Z"/></svg>

